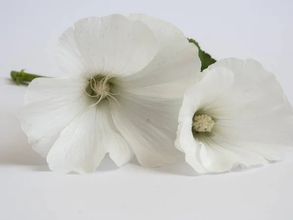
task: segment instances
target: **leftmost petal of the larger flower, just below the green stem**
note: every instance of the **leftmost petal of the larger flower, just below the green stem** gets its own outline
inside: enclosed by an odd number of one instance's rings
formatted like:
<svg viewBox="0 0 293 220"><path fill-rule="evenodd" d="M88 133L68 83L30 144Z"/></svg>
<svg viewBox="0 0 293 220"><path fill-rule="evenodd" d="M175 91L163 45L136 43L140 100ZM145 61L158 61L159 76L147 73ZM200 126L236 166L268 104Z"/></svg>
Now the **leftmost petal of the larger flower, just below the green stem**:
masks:
<svg viewBox="0 0 293 220"><path fill-rule="evenodd" d="M70 78L37 78L29 84L18 116L30 143L57 135L86 108L83 87Z"/></svg>

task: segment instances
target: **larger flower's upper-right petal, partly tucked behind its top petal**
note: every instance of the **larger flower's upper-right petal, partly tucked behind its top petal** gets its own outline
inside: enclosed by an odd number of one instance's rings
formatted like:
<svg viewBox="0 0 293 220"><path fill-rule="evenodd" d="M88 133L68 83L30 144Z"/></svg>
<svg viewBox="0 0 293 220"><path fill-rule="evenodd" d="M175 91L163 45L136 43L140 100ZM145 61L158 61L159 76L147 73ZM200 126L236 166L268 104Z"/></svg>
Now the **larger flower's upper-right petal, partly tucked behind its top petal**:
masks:
<svg viewBox="0 0 293 220"><path fill-rule="evenodd" d="M198 48L169 22L146 15L131 15L145 22L160 41L156 57L140 72L124 77L129 93L158 98L181 98L190 81L200 73Z"/></svg>

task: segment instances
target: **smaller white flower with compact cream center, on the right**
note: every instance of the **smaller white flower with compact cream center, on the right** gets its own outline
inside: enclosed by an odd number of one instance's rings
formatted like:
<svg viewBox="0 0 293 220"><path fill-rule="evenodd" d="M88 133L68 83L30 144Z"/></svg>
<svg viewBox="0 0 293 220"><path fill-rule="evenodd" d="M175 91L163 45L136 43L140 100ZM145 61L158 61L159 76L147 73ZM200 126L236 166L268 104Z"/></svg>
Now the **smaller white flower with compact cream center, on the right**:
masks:
<svg viewBox="0 0 293 220"><path fill-rule="evenodd" d="M293 111L274 75L254 60L225 59L189 87L175 146L198 173L280 160L293 149Z"/></svg>

